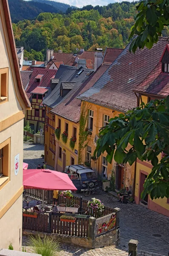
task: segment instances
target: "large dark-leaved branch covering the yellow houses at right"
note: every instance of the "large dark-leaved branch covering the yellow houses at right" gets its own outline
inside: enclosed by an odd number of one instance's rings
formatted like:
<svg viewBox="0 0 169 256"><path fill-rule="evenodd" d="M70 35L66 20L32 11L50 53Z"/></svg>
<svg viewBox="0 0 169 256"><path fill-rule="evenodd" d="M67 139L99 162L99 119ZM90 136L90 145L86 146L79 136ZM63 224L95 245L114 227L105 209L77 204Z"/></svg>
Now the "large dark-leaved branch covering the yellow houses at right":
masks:
<svg viewBox="0 0 169 256"><path fill-rule="evenodd" d="M138 158L151 161L152 171L144 183L146 193L153 198L169 198L169 96L163 100L142 103L126 114L109 120L100 130L95 154L107 152L109 163L132 165ZM161 157L163 153L163 157Z"/></svg>

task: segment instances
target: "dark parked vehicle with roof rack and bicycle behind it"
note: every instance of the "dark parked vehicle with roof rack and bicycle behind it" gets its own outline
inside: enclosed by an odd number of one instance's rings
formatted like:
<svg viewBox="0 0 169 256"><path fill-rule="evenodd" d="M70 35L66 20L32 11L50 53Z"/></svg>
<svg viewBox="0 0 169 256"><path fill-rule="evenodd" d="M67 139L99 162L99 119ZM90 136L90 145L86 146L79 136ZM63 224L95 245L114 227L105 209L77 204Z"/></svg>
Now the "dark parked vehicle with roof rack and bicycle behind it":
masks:
<svg viewBox="0 0 169 256"><path fill-rule="evenodd" d="M86 189L87 183L90 184L91 188L97 185L97 175L92 168L83 165L72 165L66 166L64 172L68 174L78 191Z"/></svg>

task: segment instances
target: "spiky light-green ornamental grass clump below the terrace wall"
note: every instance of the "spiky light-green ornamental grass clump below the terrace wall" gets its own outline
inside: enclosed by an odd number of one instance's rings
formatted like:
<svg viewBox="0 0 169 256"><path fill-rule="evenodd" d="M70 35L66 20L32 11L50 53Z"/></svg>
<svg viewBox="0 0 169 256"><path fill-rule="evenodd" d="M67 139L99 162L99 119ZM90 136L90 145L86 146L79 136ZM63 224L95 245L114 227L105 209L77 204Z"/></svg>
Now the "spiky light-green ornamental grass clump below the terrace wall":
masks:
<svg viewBox="0 0 169 256"><path fill-rule="evenodd" d="M59 252L59 241L53 240L50 236L44 236L43 239L37 234L35 237L30 236L29 246L32 247L32 253L41 254L42 256L56 256Z"/></svg>

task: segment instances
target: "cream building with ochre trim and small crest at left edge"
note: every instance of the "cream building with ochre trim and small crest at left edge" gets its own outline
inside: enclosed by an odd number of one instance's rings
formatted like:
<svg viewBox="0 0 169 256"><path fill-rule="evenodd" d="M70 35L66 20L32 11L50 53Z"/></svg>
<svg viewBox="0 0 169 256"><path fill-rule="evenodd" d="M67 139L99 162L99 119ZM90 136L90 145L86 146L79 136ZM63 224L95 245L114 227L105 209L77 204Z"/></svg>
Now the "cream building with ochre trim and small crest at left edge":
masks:
<svg viewBox="0 0 169 256"><path fill-rule="evenodd" d="M6 0L0 0L0 248L22 247L23 121L30 102L20 78Z"/></svg>

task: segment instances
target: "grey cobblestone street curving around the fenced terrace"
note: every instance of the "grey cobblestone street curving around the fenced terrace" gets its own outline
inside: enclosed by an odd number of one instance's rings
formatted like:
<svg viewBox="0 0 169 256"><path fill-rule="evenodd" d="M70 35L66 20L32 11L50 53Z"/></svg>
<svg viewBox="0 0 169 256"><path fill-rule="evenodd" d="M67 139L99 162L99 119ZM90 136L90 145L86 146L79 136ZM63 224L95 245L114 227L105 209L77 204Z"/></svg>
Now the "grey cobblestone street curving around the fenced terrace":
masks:
<svg viewBox="0 0 169 256"><path fill-rule="evenodd" d="M43 145L24 143L24 162L29 163L29 169L37 167L38 163L42 165L44 154ZM50 166L48 166L49 169ZM83 194L76 194L82 196ZM99 198L106 206L119 207L120 211L120 249L127 250L130 239L139 241L138 249L152 253L159 253L168 256L169 253L169 218L158 214L152 210L146 209L136 204L120 204L113 198L108 203L109 195L103 192L101 195L90 195L88 198ZM23 237L23 246L26 245L26 237ZM125 255L122 250L112 246L87 250L76 248L74 246L62 245L60 256L79 256L79 255Z"/></svg>

